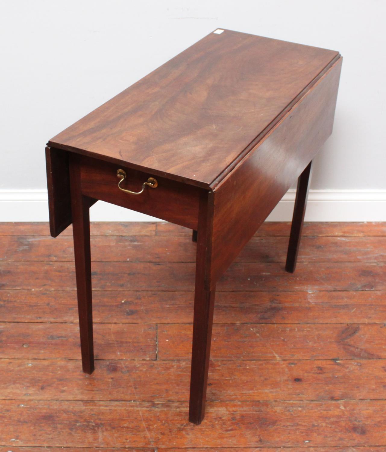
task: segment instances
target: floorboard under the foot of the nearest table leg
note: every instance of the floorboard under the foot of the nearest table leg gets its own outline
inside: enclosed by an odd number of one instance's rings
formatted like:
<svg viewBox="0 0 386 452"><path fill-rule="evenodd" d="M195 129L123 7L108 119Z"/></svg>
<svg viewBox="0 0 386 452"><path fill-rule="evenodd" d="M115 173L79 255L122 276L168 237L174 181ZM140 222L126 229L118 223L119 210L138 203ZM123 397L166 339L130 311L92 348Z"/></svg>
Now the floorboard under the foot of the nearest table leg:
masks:
<svg viewBox="0 0 386 452"><path fill-rule="evenodd" d="M216 401L205 427L187 402L4 400L0 438L20 446L301 447L385 444L385 400ZM52 428L55 427L55 434ZM158 427L158 428L157 428ZM11 440L14 440L12 442Z"/></svg>

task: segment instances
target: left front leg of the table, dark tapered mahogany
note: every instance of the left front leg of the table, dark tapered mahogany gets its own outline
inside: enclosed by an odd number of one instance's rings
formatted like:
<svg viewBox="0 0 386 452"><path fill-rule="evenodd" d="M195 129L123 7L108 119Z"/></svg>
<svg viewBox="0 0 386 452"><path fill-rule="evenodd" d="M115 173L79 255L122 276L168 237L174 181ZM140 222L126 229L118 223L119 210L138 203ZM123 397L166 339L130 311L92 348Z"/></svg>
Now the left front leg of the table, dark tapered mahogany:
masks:
<svg viewBox="0 0 386 452"><path fill-rule="evenodd" d="M92 373L94 371L94 345L89 198L83 196L80 191L80 171L76 159L70 161L70 181L82 368L83 372Z"/></svg>

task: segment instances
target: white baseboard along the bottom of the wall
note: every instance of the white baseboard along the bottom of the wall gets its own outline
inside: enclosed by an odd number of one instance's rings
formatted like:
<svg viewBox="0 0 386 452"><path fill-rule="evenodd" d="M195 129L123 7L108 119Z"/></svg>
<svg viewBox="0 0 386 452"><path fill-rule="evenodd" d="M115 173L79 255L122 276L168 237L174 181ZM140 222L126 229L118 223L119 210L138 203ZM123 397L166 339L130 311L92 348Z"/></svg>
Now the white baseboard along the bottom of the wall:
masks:
<svg viewBox="0 0 386 452"><path fill-rule="evenodd" d="M289 190L268 221L290 221L295 190ZM138 212L97 202L92 221L158 221ZM48 221L47 191L0 190L0 221ZM386 190L310 190L306 221L386 221Z"/></svg>

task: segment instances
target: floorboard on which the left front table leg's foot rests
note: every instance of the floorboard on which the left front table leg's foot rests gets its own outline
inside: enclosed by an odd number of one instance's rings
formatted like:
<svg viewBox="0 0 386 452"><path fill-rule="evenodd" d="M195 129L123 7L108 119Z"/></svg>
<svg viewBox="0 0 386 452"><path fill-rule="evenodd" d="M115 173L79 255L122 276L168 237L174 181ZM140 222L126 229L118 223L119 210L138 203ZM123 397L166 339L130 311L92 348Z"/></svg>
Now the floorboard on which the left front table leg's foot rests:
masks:
<svg viewBox="0 0 386 452"><path fill-rule="evenodd" d="M7 400L68 400L69 392L71 400L189 399L187 360L96 360L91 376L77 359L1 364ZM385 367L385 359L212 360L207 400L383 400Z"/></svg>

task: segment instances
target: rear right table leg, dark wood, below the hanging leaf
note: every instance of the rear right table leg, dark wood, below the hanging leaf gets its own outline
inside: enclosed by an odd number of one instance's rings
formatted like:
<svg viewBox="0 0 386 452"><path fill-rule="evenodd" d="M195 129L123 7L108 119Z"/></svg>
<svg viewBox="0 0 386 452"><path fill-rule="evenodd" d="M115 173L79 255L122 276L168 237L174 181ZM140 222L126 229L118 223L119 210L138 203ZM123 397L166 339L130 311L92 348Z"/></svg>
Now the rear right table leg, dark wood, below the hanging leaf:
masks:
<svg viewBox="0 0 386 452"><path fill-rule="evenodd" d="M306 213L308 189L310 187L312 173L312 160L297 180L295 207L293 209L291 233L288 243L286 270L289 273L295 271L297 254L299 252L301 230L303 229L304 214Z"/></svg>

